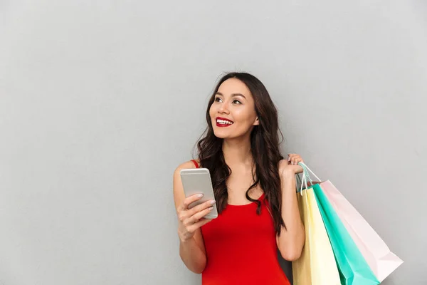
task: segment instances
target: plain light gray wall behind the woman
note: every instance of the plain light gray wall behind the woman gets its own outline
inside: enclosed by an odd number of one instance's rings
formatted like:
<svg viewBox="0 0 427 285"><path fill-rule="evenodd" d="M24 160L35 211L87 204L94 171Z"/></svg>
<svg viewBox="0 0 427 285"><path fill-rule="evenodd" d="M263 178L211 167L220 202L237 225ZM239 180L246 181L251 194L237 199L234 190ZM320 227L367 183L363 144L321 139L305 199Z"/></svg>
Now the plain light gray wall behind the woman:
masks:
<svg viewBox="0 0 427 285"><path fill-rule="evenodd" d="M224 71L427 283L426 1L10 0L0 43L0 284L199 284L172 172Z"/></svg>

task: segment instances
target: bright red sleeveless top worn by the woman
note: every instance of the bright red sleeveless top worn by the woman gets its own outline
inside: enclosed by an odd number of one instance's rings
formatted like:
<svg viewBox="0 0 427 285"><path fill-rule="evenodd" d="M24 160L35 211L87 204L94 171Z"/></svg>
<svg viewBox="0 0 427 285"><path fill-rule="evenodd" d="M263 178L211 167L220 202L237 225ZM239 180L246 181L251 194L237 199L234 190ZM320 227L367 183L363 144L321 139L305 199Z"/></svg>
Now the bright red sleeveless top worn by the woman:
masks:
<svg viewBox="0 0 427 285"><path fill-rule="evenodd" d="M202 284L290 285L279 265L273 217L264 194L259 200L260 215L256 203L228 204L201 227L207 257Z"/></svg>

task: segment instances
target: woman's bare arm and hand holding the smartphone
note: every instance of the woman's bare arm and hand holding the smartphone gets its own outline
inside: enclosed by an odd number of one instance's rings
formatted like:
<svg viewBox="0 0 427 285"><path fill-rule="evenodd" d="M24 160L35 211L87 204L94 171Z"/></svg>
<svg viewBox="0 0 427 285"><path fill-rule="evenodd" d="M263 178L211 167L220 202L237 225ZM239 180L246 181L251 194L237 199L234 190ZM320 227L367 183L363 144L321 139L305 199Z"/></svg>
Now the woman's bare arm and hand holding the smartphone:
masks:
<svg viewBox="0 0 427 285"><path fill-rule="evenodd" d="M206 251L200 227L211 221L201 219L210 211L211 204L205 202L188 209L189 204L200 197L196 195L185 197L181 182L181 169L194 168L191 162L185 162L174 172L174 202L178 216L179 256L188 269L196 274L201 274L206 267ZM199 222L197 222L199 221Z"/></svg>

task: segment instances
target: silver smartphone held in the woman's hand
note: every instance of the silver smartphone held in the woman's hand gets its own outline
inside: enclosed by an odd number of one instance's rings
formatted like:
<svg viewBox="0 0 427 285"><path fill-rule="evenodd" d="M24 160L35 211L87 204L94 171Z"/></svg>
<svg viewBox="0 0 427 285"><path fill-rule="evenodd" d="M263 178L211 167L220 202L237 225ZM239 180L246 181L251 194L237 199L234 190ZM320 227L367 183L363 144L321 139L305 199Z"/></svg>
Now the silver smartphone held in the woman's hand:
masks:
<svg viewBox="0 0 427 285"><path fill-rule="evenodd" d="M184 187L185 197L195 194L203 194L201 199L189 204L189 209L198 204L204 203L208 200L215 199L214 189L212 188L211 174L207 168L192 168L181 170L181 181ZM213 205L214 209L204 216L205 219L215 219L218 217L216 204Z"/></svg>

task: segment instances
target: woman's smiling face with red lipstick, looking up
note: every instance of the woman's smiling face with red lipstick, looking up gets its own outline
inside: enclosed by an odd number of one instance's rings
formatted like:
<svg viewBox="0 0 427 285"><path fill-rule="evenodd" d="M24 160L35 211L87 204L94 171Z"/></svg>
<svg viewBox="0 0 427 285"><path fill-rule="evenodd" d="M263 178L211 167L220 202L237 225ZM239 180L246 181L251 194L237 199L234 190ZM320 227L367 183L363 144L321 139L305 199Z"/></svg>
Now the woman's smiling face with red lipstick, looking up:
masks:
<svg viewBox="0 0 427 285"><path fill-rule="evenodd" d="M219 86L209 115L218 138L238 138L259 125L251 91L237 78L229 78Z"/></svg>

